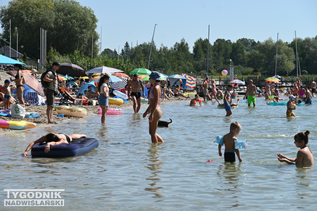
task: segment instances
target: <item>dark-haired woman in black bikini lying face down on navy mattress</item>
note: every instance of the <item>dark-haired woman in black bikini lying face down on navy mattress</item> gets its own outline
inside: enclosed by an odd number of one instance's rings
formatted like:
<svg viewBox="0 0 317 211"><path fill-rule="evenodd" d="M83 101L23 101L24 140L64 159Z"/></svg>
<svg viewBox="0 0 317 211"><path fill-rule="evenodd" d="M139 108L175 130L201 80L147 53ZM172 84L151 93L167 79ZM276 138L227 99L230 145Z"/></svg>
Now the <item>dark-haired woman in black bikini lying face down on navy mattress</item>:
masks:
<svg viewBox="0 0 317 211"><path fill-rule="evenodd" d="M45 136L40 137L36 141L33 141L29 144L29 146L26 148L26 150L22 153L22 155L27 156L28 151L32 149L34 144L37 143L46 143L46 146L44 148L45 152L49 152L49 146L52 145L58 145L62 143L71 143L73 140L79 139L79 138L86 138L85 134L72 134L70 136L63 134L63 133L49 133Z"/></svg>

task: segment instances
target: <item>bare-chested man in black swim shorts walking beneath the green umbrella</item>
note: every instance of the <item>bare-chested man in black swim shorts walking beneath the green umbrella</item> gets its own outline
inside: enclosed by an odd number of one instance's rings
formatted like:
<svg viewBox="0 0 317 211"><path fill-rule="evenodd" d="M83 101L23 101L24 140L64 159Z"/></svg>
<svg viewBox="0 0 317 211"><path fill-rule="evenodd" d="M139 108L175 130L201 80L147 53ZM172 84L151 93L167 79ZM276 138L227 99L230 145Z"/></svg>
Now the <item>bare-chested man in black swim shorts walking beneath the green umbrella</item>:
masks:
<svg viewBox="0 0 317 211"><path fill-rule="evenodd" d="M142 88L142 91L143 91L143 97L145 97L144 86L142 81L138 78L137 74L133 74L131 80L129 80L128 82L128 97L130 97L130 89L131 89L131 98L133 101L134 113L138 113L141 108L140 87Z"/></svg>

